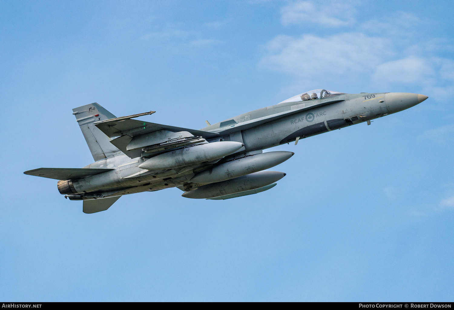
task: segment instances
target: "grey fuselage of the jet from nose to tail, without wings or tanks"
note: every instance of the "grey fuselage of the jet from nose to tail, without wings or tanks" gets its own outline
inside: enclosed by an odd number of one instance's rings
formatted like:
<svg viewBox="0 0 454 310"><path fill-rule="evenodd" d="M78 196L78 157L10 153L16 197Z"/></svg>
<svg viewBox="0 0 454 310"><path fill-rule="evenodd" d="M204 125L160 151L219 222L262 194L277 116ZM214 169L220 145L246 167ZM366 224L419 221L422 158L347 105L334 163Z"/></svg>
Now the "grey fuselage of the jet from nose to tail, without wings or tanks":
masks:
<svg viewBox="0 0 454 310"><path fill-rule="evenodd" d="M207 139L208 142L244 143L244 147L237 153L216 162L219 164L233 157L261 153L263 149L289 143L296 138L307 138L405 110L426 98L424 95L409 93L341 94L324 99L271 105L201 130L219 134L219 137ZM199 163L178 169L148 171L141 176L131 177L143 171L138 167L143 161L143 157L130 158L121 152L113 154L84 168L114 170L74 180L74 190L87 198L90 194L120 196L175 186L183 186L186 190L200 186L190 182L195 173L213 166L213 163Z"/></svg>

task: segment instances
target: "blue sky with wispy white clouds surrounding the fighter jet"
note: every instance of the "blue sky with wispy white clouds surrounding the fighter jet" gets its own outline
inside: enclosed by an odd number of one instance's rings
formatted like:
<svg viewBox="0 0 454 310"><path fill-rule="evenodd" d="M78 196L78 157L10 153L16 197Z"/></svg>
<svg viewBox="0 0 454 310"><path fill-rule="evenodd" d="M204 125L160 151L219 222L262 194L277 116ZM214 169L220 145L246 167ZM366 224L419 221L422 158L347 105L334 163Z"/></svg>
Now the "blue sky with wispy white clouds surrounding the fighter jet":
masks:
<svg viewBox="0 0 454 310"><path fill-rule="evenodd" d="M2 1L0 299L454 297L451 1ZM273 189L82 213L38 167L93 161L72 108L199 129L303 91L415 92L307 138ZM271 149L270 149L271 150Z"/></svg>

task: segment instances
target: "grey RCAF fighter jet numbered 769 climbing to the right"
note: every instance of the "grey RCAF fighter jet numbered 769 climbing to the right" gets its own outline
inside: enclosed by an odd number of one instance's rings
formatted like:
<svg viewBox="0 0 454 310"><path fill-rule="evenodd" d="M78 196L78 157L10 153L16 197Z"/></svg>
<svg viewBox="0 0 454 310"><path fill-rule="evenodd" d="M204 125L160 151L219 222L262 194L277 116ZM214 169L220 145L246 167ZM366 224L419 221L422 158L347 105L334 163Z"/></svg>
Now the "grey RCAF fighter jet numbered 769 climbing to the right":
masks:
<svg viewBox="0 0 454 310"><path fill-rule="evenodd" d="M317 89L200 130L123 117L97 103L73 109L94 162L84 168L24 172L59 180L60 194L83 211L107 210L123 195L178 187L183 197L225 200L267 191L286 174L267 171L293 152L263 152L408 109L428 96L346 94Z"/></svg>

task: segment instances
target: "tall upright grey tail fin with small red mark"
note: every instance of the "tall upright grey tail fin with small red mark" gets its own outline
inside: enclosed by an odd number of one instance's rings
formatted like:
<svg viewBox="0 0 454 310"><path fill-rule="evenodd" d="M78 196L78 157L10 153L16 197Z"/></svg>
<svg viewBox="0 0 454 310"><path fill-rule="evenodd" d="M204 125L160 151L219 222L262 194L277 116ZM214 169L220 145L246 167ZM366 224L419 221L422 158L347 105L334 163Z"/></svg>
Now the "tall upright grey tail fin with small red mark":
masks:
<svg viewBox="0 0 454 310"><path fill-rule="evenodd" d="M93 124L93 122L98 120L113 119L115 118L114 114L96 102L75 108L73 112L95 162L111 157L115 152L119 151L118 148L110 143L110 138Z"/></svg>

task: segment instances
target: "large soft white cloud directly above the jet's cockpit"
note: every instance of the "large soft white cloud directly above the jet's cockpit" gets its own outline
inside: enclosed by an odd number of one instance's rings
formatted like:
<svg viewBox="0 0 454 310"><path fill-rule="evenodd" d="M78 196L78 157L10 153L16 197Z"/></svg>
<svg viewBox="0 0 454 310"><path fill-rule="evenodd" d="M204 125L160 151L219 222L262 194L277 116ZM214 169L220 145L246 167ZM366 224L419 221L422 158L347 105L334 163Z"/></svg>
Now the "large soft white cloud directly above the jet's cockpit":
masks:
<svg viewBox="0 0 454 310"><path fill-rule="evenodd" d="M363 33L341 33L326 38L305 34L299 38L280 35L266 45L262 67L299 78L325 80L357 78L372 74L384 58L392 56L386 38Z"/></svg>

